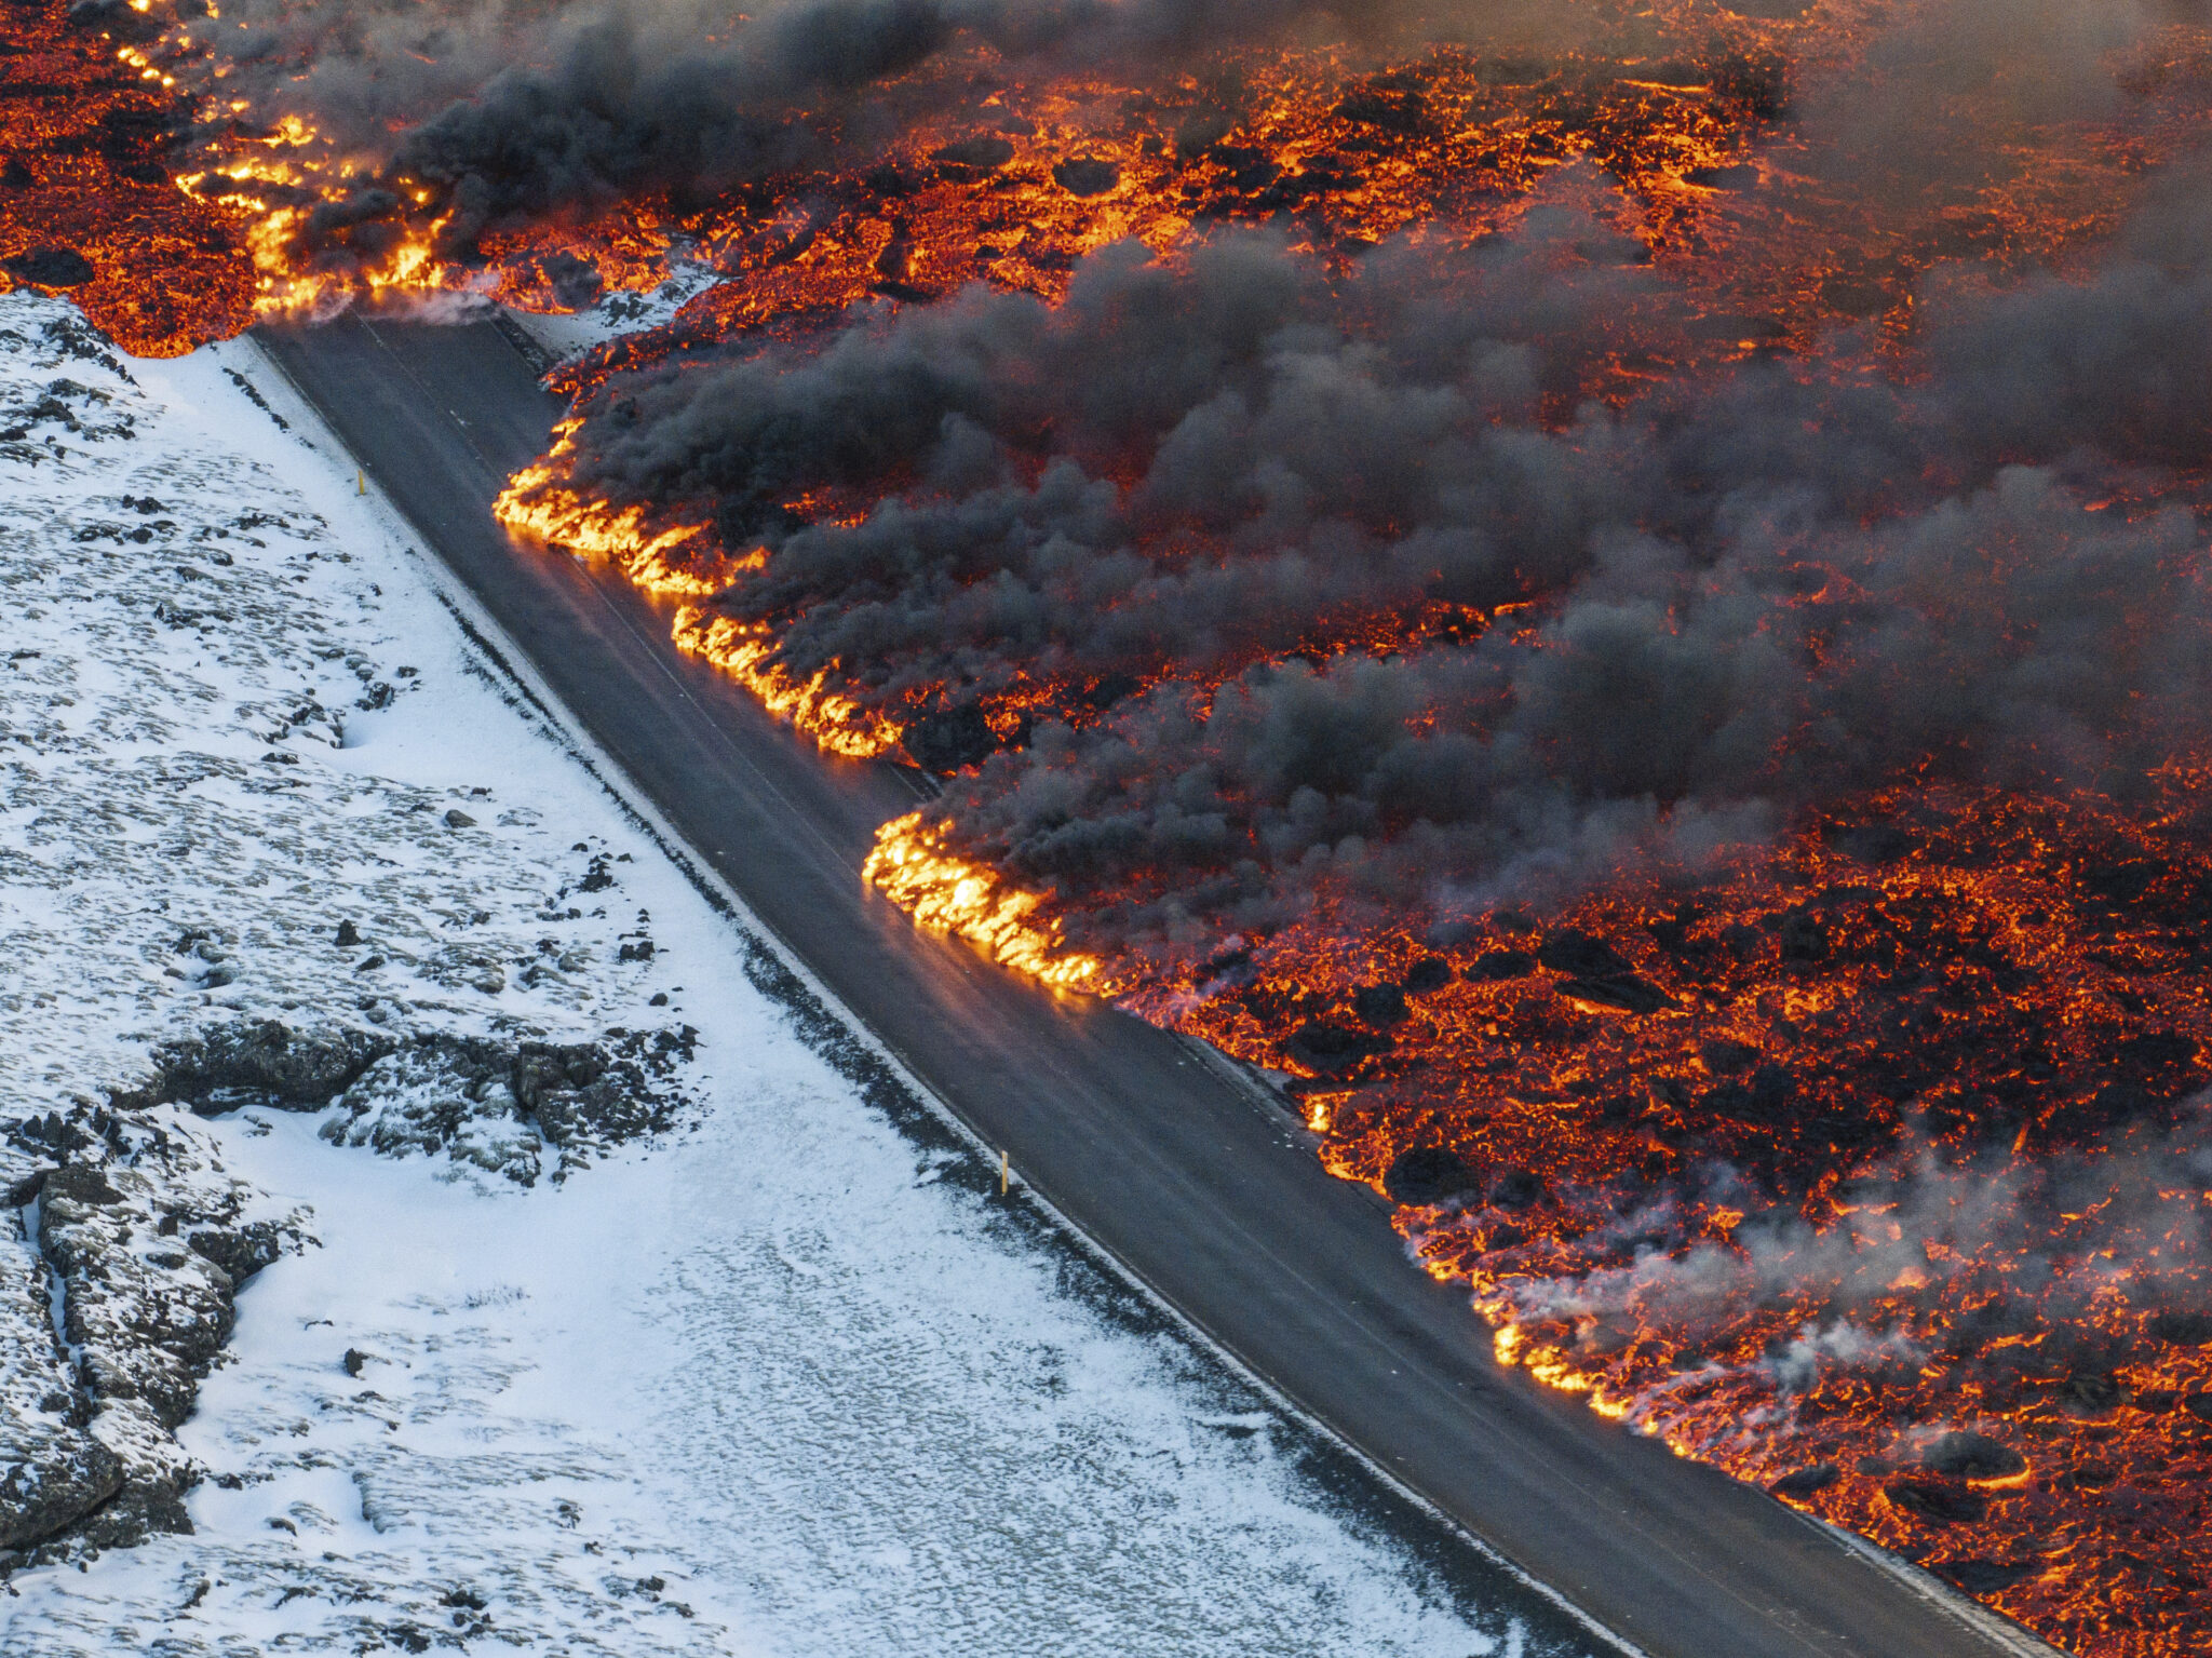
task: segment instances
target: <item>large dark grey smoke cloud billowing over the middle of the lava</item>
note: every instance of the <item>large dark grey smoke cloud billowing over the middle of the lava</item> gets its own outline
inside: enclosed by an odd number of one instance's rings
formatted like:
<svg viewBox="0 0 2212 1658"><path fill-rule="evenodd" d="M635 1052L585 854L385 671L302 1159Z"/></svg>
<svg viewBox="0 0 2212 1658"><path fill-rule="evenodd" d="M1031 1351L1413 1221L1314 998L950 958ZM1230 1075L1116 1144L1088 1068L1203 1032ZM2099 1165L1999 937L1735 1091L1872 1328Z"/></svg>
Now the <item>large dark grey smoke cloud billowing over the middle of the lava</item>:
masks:
<svg viewBox="0 0 2212 1658"><path fill-rule="evenodd" d="M1694 860L1922 763L2126 791L2205 736L2201 533L2051 462L2203 455L2199 203L2132 232L2166 263L1951 296L1931 385L1765 365L1564 418L1624 316L1672 325L1588 223L1345 279L1267 237L1110 250L1057 312L978 290L619 382L577 482L776 544L721 606L894 716L1068 688L945 811L1093 942ZM779 526L825 482L883 500ZM1513 599L1533 632L1418 641ZM1363 626L1413 643L1270 663ZM1088 716L1115 674L1161 683Z"/></svg>

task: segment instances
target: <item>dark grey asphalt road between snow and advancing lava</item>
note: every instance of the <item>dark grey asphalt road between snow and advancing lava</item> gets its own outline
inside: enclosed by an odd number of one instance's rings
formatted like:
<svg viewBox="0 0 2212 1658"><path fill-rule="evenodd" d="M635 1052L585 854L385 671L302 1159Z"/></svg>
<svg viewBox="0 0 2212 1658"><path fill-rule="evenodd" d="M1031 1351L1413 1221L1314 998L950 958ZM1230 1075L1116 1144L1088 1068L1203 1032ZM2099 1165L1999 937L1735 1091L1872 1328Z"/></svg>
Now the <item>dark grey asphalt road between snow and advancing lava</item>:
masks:
<svg viewBox="0 0 2212 1658"><path fill-rule="evenodd" d="M860 882L911 774L814 752L608 573L515 544L504 478L560 413L491 325L261 336L385 495L799 959L1015 1174L1223 1349L1655 1658L1991 1658L1765 1494L1502 1371L1378 1200L1186 1043L916 931ZM1537 1607L1535 1616L1542 1618Z"/></svg>

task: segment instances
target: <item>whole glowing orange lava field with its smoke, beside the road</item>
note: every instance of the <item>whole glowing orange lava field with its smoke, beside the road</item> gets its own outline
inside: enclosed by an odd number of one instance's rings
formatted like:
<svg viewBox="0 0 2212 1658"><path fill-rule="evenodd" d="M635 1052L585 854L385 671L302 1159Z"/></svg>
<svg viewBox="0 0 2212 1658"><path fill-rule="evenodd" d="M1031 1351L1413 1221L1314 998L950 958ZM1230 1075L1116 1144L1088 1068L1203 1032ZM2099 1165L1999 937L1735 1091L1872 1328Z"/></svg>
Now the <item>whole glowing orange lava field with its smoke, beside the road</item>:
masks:
<svg viewBox="0 0 2212 1658"><path fill-rule="evenodd" d="M2197 1651L2212 35L1498 11L115 62L263 312L697 290L500 513L942 776L918 922L1274 1070L1504 1362Z"/></svg>

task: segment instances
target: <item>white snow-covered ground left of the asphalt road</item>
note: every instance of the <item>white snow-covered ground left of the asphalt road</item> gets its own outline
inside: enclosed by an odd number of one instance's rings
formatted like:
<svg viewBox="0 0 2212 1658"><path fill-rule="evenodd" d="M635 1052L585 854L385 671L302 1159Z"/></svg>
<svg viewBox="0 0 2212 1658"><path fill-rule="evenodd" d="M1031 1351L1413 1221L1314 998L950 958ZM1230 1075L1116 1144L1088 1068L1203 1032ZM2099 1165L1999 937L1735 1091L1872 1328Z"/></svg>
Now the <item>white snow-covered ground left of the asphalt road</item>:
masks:
<svg viewBox="0 0 2212 1658"><path fill-rule="evenodd" d="M106 1435L192 1525L18 1570L11 1658L1551 1649L863 1099L248 343L0 298L0 1481ZM161 1099L250 1021L352 1085ZM584 1043L650 1110L526 1083Z"/></svg>

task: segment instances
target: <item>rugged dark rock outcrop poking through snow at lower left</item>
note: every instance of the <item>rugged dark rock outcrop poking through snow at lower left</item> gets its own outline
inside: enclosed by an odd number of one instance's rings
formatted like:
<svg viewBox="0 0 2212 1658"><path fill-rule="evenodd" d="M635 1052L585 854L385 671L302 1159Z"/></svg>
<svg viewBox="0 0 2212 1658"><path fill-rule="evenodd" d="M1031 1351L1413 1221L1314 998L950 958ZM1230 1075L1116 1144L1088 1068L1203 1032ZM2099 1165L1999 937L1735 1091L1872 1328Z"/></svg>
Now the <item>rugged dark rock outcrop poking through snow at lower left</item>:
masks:
<svg viewBox="0 0 2212 1658"><path fill-rule="evenodd" d="M0 1576L188 1532L175 1430L237 1293L307 1216L228 1176L199 1116L323 1110L321 1132L522 1185L675 1125L697 1030L392 1035L232 1021L159 1043L104 1105L0 1108Z"/></svg>

